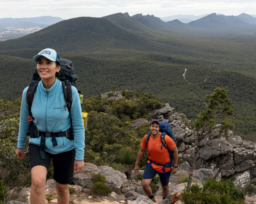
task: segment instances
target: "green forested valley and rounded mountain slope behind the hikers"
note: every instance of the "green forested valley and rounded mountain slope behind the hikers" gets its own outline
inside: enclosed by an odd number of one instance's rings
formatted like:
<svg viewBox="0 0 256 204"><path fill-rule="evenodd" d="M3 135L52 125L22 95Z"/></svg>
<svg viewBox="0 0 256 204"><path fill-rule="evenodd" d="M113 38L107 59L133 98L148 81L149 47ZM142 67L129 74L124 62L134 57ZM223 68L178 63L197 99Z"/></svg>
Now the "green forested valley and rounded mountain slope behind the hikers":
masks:
<svg viewBox="0 0 256 204"><path fill-rule="evenodd" d="M235 134L256 141L255 32L193 28L189 34L159 20L127 13L80 17L0 42L0 98L22 96L36 68L33 56L49 47L73 61L77 88L88 97L113 85L152 92L193 119L203 110L206 94L228 86Z"/></svg>

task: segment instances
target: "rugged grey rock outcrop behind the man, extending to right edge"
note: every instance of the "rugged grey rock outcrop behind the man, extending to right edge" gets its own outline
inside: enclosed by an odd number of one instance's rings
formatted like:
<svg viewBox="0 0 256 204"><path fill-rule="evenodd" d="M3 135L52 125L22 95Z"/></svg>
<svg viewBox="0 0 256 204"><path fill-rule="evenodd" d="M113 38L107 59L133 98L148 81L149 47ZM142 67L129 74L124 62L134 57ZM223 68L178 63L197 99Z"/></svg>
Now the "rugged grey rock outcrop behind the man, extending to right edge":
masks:
<svg viewBox="0 0 256 204"><path fill-rule="evenodd" d="M179 158L191 163L195 156L197 133L191 130L186 116L173 112L168 103L151 114L161 122L170 123ZM199 171L194 171L195 177L200 180L215 178L219 181L231 177L238 188L245 189L250 185L250 180L256 177L256 143L242 140L240 136L233 135L232 131L227 136L219 135L219 126L216 125L199 143L202 149L196 158L195 168ZM188 170L189 167L184 165L183 168Z"/></svg>

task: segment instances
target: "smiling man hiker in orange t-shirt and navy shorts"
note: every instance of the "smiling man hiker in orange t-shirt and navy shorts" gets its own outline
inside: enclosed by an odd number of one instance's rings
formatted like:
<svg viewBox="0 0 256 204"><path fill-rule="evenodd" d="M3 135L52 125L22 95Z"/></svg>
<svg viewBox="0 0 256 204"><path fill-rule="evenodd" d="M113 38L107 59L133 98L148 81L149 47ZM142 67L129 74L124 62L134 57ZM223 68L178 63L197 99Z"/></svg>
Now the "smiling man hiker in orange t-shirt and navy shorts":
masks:
<svg viewBox="0 0 256 204"><path fill-rule="evenodd" d="M163 199L166 199L168 197L169 193L169 179L171 174L175 174L177 172L178 167L178 150L177 147L172 140L171 137L168 135L165 136L165 143L169 150L173 153L173 166L172 161L170 158L170 154L168 152L168 149L162 147L162 141L161 141L161 132L160 130L160 121L157 119L153 119L150 122L149 129L151 131L151 134L148 138L146 134L143 137L143 140L141 142L141 147L136 159L134 172L139 173L139 162L142 158L143 154L145 153L146 149L148 149L148 161L145 166L144 174L142 177L142 187L144 192L147 194L147 196L156 202L154 198L154 194L152 193L152 189L150 187L150 182L155 177L156 173L158 173L162 191L163 191Z"/></svg>

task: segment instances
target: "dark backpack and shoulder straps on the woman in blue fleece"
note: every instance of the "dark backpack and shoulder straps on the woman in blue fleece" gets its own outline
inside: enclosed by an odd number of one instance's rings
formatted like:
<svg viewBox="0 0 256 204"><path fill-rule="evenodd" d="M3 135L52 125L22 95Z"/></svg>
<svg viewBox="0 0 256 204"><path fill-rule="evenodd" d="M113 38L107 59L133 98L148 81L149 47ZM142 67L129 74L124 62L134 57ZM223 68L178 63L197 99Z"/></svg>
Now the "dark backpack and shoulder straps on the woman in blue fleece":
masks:
<svg viewBox="0 0 256 204"><path fill-rule="evenodd" d="M76 87L77 76L74 73L73 63L67 59L60 59L60 78L59 80L62 82L62 88L64 93L64 99L66 101L66 105L64 106L65 110L66 107L70 112L71 103L72 103L72 86ZM32 77L32 82L30 83L27 91L27 103L29 109L29 121L33 121L33 117L31 114L31 106L34 98L35 90L37 89L38 83L41 81L39 77L38 71L35 70Z"/></svg>

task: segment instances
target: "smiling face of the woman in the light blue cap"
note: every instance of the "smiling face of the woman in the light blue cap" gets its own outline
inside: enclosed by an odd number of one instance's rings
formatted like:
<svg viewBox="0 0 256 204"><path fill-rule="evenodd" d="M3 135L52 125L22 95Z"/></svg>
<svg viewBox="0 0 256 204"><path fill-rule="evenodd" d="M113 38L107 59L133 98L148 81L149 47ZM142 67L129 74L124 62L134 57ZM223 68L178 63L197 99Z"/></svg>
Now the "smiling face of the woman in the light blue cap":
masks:
<svg viewBox="0 0 256 204"><path fill-rule="evenodd" d="M48 60L46 57L41 56L37 61L37 71L43 80L55 80L56 72L59 72L60 66L56 62Z"/></svg>

